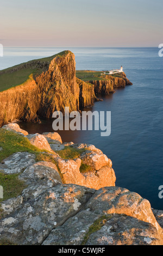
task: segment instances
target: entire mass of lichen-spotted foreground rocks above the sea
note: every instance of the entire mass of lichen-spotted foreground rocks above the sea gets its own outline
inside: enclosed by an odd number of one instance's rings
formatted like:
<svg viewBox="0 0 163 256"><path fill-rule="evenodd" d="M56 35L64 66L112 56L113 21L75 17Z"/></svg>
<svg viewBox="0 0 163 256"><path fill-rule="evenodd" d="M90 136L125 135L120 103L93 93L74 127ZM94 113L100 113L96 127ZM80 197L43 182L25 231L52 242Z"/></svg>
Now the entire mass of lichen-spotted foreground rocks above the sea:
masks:
<svg viewBox="0 0 163 256"><path fill-rule="evenodd" d="M163 245L163 211L116 187L112 162L101 150L62 143L56 132L28 135L17 124L0 132L16 135L19 145L24 140L41 155L27 148L0 164L1 173L17 174L25 185L1 202L1 244Z"/></svg>

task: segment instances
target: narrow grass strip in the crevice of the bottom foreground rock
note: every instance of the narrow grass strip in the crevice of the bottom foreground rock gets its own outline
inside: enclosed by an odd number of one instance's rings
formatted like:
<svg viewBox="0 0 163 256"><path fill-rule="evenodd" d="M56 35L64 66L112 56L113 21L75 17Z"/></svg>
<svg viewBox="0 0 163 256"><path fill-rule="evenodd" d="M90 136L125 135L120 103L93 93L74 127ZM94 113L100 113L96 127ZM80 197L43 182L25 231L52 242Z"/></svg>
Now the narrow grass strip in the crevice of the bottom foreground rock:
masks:
<svg viewBox="0 0 163 256"><path fill-rule="evenodd" d="M98 220L96 220L89 228L89 231L87 231L86 235L84 236L84 239L82 241L82 245L85 245L87 240L89 239L90 235L92 233L95 233L96 231L100 230L103 225L105 225L105 223L110 220L110 218L112 217L112 214L110 215L103 215L101 217L98 218Z"/></svg>

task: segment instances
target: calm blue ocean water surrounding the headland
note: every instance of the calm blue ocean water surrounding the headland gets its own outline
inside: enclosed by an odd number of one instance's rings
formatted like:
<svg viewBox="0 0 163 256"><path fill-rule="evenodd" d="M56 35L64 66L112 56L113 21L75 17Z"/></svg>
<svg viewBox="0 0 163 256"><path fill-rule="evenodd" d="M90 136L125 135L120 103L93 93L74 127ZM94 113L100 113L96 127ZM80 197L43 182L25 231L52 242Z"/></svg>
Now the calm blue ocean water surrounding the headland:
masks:
<svg viewBox="0 0 163 256"><path fill-rule="evenodd" d="M62 140L91 143L113 163L116 186L126 187L163 210L158 197L163 185L163 58L158 48L4 48L0 69L31 59L51 56L62 50L76 55L78 70L123 70L133 86L119 88L86 110L111 111L111 135L100 131L60 131ZM52 120L25 124L29 133L53 131Z"/></svg>

